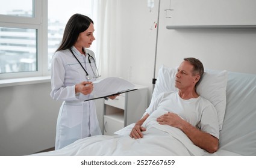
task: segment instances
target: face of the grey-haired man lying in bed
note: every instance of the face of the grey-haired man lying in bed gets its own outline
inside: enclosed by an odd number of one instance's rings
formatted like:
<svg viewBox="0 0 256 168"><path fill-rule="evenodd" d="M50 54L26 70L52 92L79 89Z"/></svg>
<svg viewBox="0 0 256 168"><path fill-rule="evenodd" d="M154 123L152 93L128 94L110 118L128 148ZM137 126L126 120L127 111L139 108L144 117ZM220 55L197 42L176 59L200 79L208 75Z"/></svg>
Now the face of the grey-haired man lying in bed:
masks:
<svg viewBox="0 0 256 168"><path fill-rule="evenodd" d="M192 74L193 65L189 61L183 61L178 67L175 79L175 87L178 89L188 89L195 87L195 76Z"/></svg>

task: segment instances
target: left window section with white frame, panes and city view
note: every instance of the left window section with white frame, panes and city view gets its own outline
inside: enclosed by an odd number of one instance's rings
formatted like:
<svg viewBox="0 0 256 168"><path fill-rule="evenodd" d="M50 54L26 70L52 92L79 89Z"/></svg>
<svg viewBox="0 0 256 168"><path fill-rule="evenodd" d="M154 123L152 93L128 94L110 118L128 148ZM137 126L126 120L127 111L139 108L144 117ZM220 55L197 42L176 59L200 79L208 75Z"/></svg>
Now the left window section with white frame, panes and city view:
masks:
<svg viewBox="0 0 256 168"><path fill-rule="evenodd" d="M0 79L42 76L43 1L0 1Z"/></svg>

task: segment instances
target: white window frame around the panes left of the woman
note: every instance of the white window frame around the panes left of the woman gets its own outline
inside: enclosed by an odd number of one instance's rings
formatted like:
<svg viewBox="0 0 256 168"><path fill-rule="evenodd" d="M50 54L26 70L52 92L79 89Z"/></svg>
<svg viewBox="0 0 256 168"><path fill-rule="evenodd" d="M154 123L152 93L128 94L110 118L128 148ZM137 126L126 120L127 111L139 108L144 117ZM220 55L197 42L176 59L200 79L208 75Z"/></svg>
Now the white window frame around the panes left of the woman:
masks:
<svg viewBox="0 0 256 168"><path fill-rule="evenodd" d="M0 27L36 29L37 71L2 73L1 79L49 76L48 70L48 1L33 0L34 17L7 16L0 14Z"/></svg>

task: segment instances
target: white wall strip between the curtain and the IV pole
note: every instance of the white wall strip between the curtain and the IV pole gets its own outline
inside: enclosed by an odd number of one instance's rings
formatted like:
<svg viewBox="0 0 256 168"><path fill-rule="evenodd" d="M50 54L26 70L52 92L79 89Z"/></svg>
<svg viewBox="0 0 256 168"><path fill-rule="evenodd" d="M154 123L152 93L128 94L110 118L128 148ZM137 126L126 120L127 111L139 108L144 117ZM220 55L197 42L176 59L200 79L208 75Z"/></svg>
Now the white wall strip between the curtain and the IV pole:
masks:
<svg viewBox="0 0 256 168"><path fill-rule="evenodd" d="M157 20L156 11L149 13L147 1L120 1L120 40L119 64L121 76L128 79L131 67L131 82L149 86L152 92L154 72L155 33L150 29Z"/></svg>

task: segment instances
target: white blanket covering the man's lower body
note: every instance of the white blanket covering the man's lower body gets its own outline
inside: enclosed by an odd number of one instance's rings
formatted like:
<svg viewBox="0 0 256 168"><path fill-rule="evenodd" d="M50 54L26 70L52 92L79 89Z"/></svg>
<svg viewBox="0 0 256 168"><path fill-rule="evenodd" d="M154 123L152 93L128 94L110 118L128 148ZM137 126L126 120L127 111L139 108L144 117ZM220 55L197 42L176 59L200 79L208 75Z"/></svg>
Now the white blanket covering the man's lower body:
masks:
<svg viewBox="0 0 256 168"><path fill-rule="evenodd" d="M36 155L205 155L208 152L193 145L183 131L151 120L142 139L130 136L93 136L51 152Z"/></svg>

